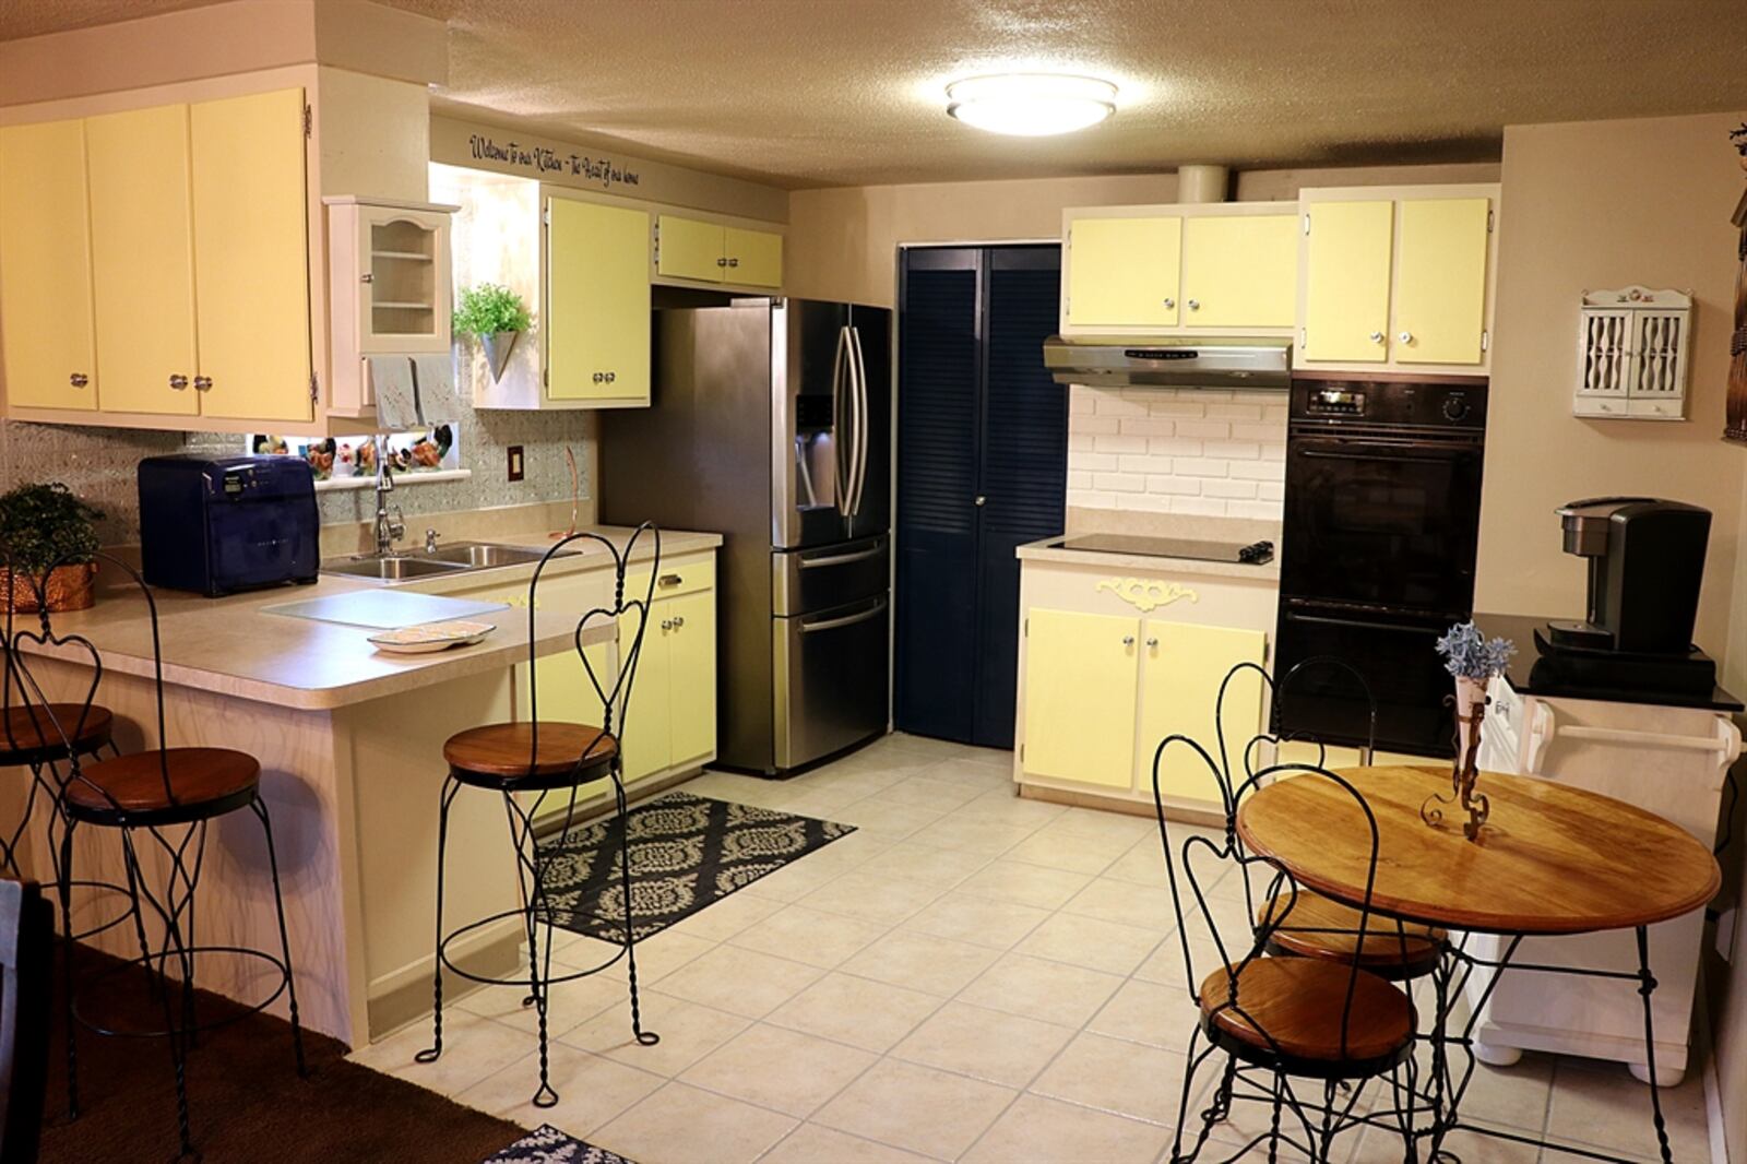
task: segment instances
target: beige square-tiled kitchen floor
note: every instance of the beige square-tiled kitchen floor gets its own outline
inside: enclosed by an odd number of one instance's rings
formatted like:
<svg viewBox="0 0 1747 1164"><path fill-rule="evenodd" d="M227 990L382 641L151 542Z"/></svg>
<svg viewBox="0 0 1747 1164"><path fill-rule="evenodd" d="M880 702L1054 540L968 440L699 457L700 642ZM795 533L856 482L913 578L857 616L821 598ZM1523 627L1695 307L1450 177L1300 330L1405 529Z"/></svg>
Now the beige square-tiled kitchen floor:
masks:
<svg viewBox="0 0 1747 1164"><path fill-rule="evenodd" d="M858 832L638 946L659 1045L631 1040L615 967L554 991L552 1110L528 1103L533 1028L512 989L451 1008L437 1064L412 1063L426 1024L356 1059L639 1164L1169 1157L1195 1010L1150 820L1019 800L1008 753L908 736L791 781L706 773L687 790ZM557 958L590 965L596 946L571 939ZM1480 1068L1466 1110L1654 1159L1647 1091L1625 1068ZM1709 1161L1696 1073L1665 1112L1675 1159ZM1240 1105L1214 1134L1240 1145L1256 1119ZM1466 1164L1543 1159L1476 1136L1450 1147ZM1401 1143L1352 1133L1336 1155L1399 1161Z"/></svg>

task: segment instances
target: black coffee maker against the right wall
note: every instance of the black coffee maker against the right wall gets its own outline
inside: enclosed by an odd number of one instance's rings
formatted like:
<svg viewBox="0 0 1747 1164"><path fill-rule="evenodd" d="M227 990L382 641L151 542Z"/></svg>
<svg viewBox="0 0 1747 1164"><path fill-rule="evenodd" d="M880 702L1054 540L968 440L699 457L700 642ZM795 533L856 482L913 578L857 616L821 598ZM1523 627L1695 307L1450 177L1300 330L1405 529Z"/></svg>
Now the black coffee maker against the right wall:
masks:
<svg viewBox="0 0 1747 1164"><path fill-rule="evenodd" d="M1605 687L1710 690L1716 662L1693 647L1710 510L1649 496L1558 509L1565 552L1588 559L1583 620L1536 631L1564 678Z"/></svg>

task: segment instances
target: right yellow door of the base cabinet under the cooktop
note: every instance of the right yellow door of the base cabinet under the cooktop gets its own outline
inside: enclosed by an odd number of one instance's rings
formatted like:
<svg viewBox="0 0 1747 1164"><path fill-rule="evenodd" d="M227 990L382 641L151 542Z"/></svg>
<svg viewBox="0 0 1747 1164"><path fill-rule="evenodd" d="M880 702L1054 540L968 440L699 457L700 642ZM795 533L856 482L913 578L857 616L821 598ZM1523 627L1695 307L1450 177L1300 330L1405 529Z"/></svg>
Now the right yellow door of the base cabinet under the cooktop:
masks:
<svg viewBox="0 0 1747 1164"><path fill-rule="evenodd" d="M1219 762L1216 708L1219 685L1239 662L1261 662L1267 636L1221 626L1146 620L1143 643L1144 687L1141 692L1141 767L1143 783L1151 786L1153 753L1158 743L1183 734ZM1261 731L1261 676L1246 671L1232 680L1225 697L1225 741L1232 759L1233 783L1244 771L1244 748ZM1260 767L1267 757L1260 757ZM1165 750L1158 769L1158 788L1179 800L1221 802L1219 785L1207 764L1188 745Z"/></svg>

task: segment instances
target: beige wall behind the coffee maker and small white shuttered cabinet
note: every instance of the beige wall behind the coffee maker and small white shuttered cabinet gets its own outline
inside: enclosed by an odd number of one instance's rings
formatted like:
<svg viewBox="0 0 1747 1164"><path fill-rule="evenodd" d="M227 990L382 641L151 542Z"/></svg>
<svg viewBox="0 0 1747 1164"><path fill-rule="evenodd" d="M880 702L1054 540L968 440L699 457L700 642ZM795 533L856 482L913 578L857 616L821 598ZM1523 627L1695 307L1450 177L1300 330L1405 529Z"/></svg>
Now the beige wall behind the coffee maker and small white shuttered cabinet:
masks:
<svg viewBox="0 0 1747 1164"><path fill-rule="evenodd" d="M1513 126L1504 133L1497 350L1487 421L1474 605L1581 613L1583 563L1560 551L1553 509L1646 493L1712 510L1698 645L1723 655L1747 454L1723 432L1735 295L1730 211L1740 114ZM1585 288L1691 288L1686 423L1576 419L1578 301Z"/></svg>

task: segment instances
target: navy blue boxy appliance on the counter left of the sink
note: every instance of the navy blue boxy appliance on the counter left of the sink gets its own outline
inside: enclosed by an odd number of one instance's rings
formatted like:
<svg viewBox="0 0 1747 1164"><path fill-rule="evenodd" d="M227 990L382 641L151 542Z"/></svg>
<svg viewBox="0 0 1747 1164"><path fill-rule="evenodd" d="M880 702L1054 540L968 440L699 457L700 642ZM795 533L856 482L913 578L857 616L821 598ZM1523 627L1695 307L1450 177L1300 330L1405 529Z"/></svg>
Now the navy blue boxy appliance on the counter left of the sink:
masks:
<svg viewBox="0 0 1747 1164"><path fill-rule="evenodd" d="M316 580L321 519L300 456L148 456L138 484L150 585L218 598Z"/></svg>

